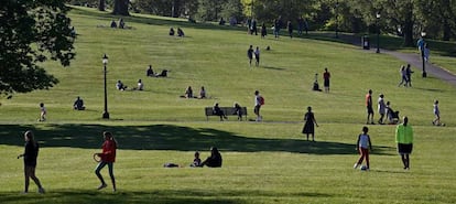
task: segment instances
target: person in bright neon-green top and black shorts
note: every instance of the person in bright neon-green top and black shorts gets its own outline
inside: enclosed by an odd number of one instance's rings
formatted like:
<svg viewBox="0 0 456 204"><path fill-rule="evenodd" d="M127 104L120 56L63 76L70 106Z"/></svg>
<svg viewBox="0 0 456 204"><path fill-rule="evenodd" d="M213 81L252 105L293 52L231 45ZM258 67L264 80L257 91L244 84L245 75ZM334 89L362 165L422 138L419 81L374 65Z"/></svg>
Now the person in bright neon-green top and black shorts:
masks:
<svg viewBox="0 0 456 204"><path fill-rule="evenodd" d="M404 170L410 170L410 154L413 150L413 129L409 125L409 118L404 116L403 124L395 127L395 143L401 155Z"/></svg>

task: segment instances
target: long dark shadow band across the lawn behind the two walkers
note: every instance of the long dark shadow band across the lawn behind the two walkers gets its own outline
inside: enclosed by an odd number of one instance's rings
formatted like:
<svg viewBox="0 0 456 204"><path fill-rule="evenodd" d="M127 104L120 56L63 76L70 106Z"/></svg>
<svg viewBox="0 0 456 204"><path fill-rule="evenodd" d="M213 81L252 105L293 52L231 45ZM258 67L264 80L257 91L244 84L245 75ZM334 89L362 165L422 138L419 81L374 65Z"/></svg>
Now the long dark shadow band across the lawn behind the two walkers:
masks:
<svg viewBox="0 0 456 204"><path fill-rule="evenodd" d="M354 154L351 143L300 139L269 139L237 136L213 128L189 128L175 125L102 126L102 125L44 125L43 127L0 125L0 144L23 146L22 135L31 129L42 147L72 147L98 149L101 132L115 133L119 149L195 151L218 147L222 151L257 152L283 151L311 154ZM392 152L390 147L376 147L376 154Z"/></svg>

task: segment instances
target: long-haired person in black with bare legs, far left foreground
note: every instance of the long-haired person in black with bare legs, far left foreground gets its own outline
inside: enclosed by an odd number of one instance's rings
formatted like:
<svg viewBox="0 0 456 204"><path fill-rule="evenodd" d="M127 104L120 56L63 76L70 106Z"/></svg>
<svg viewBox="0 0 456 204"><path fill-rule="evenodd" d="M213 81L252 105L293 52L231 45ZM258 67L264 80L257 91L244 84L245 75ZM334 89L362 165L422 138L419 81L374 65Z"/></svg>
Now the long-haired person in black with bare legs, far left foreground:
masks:
<svg viewBox="0 0 456 204"><path fill-rule="evenodd" d="M29 193L29 184L30 179L35 182L35 184L39 187L39 193L43 194L44 189L41 185L40 180L35 175L35 169L36 169L36 159L39 155L39 144L35 141L35 138L33 136L33 132L31 130L28 130L24 133L24 140L25 140L25 150L24 153L18 155L19 158L24 158L24 178L25 178L25 189L23 193Z"/></svg>

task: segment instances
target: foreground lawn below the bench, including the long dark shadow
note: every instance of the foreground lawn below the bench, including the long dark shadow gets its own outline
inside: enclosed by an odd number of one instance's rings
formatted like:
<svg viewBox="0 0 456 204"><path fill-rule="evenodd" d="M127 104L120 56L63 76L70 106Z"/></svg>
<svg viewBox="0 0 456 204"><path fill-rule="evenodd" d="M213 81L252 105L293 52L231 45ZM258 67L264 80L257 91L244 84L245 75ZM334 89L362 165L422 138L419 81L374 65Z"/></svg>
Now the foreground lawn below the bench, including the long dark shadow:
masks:
<svg viewBox="0 0 456 204"><path fill-rule="evenodd" d="M4 127L4 126L3 126ZM2 127L2 129L3 129ZM415 128L411 170L395 153L394 126L370 126L371 170L352 169L362 126L325 124L316 142L305 141L301 124L160 122L134 125L39 125L37 176L47 193L21 195L21 137L26 126L1 136L2 203L454 203L454 128ZM85 129L86 131L78 131ZM344 131L340 131L344 129ZM91 159L100 131L118 132L115 174L118 192L97 191ZM173 132L170 135L170 132ZM338 133L335 133L338 132ZM224 157L221 169L193 169L193 152ZM438 147L438 148L436 148ZM184 168L167 169L174 162ZM4 165L7 164L7 165ZM104 170L105 178L107 170ZM108 178L106 178L108 179ZM108 180L109 181L109 180ZM362 192L362 193L361 193Z"/></svg>

